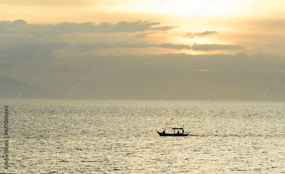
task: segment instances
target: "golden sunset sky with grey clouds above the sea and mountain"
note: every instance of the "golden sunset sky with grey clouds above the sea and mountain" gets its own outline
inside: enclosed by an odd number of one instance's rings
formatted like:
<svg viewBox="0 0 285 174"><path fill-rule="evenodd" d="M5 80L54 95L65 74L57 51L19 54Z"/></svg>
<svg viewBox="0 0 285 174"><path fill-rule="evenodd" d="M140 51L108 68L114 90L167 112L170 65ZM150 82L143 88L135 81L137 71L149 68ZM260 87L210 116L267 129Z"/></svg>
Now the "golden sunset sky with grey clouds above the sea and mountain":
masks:
<svg viewBox="0 0 285 174"><path fill-rule="evenodd" d="M66 100L284 100L284 6L1 0L0 76Z"/></svg>

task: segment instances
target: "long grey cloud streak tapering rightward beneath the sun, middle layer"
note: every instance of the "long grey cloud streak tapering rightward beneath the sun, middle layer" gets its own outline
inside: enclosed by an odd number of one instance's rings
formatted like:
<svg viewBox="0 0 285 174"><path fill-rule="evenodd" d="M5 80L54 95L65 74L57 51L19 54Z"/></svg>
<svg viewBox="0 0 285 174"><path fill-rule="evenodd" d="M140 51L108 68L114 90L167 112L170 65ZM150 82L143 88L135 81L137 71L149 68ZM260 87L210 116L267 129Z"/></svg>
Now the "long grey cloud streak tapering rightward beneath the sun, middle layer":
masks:
<svg viewBox="0 0 285 174"><path fill-rule="evenodd" d="M74 44L74 46L70 46L64 39L31 39L26 45L23 46L18 52L15 49L15 46L19 46L19 41L10 41L9 44L5 44L4 41L0 41L0 59L2 56L10 55L10 58L17 59L34 59L38 56L52 56L53 53L58 49L63 49L65 46L68 46L69 49L65 54L73 54L73 53L83 53L92 50L102 50L104 48L113 48L118 42L107 42L107 41L78 41L78 43ZM185 44L150 44L145 41L141 42L125 42L122 44L121 48L150 48L150 47L158 47L164 49L175 49L175 50L196 50L196 51L208 51L212 46L214 46L217 50L229 50L229 49L241 49L246 48L241 45L215 45L215 44L194 44L193 46L185 45ZM57 51L59 52L59 51ZM4 58L4 57L2 57Z"/></svg>

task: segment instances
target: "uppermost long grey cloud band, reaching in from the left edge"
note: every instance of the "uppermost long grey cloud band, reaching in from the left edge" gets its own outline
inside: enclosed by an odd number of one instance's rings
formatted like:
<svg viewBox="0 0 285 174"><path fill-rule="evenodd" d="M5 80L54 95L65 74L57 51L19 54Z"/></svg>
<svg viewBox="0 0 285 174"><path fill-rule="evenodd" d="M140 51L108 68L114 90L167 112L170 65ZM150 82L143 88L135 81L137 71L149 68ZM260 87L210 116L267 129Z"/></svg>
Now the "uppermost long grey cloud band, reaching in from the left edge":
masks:
<svg viewBox="0 0 285 174"><path fill-rule="evenodd" d="M42 22L42 21L41 21ZM159 22L136 21L126 22L121 21L116 24L102 22L95 24L92 22L75 23L62 22L58 24L45 24L40 29L38 35L58 35L64 33L75 33L82 31L83 33L118 33L118 32L135 32L135 31L167 31L175 28L175 26L159 26ZM32 29L39 24L27 24L26 21L0 21L0 34L11 33L32 33Z"/></svg>

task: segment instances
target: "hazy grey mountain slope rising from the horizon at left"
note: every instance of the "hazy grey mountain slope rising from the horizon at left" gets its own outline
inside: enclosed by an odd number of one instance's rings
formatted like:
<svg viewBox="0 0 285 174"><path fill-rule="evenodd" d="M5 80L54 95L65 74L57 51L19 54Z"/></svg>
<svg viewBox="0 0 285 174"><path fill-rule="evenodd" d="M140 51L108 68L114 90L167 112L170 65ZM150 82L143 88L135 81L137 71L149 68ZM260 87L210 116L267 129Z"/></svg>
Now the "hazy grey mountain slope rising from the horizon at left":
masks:
<svg viewBox="0 0 285 174"><path fill-rule="evenodd" d="M29 85L31 86L31 84ZM19 92L22 92L22 96L19 96ZM28 84L24 82L20 82L18 80L5 76L0 76L0 98L63 99L63 95L39 88L34 85L29 87Z"/></svg>

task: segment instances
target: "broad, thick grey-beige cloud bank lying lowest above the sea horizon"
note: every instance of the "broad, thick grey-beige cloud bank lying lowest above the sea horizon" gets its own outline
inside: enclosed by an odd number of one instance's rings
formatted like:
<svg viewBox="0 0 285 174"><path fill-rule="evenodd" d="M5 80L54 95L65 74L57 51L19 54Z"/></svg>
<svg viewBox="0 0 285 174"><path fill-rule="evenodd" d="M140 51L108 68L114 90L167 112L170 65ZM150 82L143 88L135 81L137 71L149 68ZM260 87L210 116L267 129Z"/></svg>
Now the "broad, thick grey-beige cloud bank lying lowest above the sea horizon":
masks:
<svg viewBox="0 0 285 174"><path fill-rule="evenodd" d="M217 90L221 82L226 82L229 86L215 99L256 100L256 96L266 90L285 67L284 56L258 54L242 70L240 64L244 64L245 59L249 58L245 52L207 56L185 53L160 54L147 66L146 61L154 55L70 54L60 58L56 64L50 62L50 57L44 56L34 60L19 60L13 67L3 66L0 71L1 75L4 75L4 70L7 70L10 77L16 76L15 79L19 80L36 75L41 77L43 82L38 83L39 87L66 93L72 85L80 82L80 77L88 73L90 67L94 67L97 72L84 84L84 90L78 90L74 94L74 98L108 99L116 94L116 90L127 79L131 79L134 83L119 99L158 99L168 88L176 85L175 80L183 76L185 70L189 70L192 74L177 86L175 93L168 99L207 100L212 97L211 92ZM6 65L14 62L11 58L5 60ZM283 87L282 81L274 89L276 94L270 93L271 97L284 97Z"/></svg>

